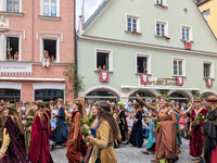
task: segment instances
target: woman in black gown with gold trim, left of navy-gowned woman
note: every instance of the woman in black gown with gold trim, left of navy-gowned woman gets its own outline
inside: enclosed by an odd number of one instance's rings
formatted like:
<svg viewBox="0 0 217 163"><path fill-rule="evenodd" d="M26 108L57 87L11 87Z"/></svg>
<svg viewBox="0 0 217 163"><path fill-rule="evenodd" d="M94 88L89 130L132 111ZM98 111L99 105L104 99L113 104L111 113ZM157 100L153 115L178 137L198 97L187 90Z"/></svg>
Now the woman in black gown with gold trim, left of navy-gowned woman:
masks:
<svg viewBox="0 0 217 163"><path fill-rule="evenodd" d="M125 111L123 108L123 102L120 101L118 102L117 109L119 110L118 124L119 124L119 131L122 134L122 141L128 141L128 127L127 127Z"/></svg>

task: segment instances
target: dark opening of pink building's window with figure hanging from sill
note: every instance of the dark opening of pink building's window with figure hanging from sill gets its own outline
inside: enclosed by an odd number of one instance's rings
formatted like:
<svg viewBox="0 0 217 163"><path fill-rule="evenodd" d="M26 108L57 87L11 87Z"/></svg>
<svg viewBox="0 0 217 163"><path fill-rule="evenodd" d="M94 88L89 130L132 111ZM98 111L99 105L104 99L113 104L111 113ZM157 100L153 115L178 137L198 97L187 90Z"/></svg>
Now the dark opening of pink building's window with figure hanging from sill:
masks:
<svg viewBox="0 0 217 163"><path fill-rule="evenodd" d="M47 50L50 58L56 60L56 40L43 39L43 50Z"/></svg>

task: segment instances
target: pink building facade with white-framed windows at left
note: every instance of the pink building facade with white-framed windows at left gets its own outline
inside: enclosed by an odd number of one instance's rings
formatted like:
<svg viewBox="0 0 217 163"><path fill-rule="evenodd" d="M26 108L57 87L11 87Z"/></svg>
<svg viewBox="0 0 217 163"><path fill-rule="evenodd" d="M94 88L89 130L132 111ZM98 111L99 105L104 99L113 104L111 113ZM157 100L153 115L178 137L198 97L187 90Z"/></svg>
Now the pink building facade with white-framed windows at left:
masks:
<svg viewBox="0 0 217 163"><path fill-rule="evenodd" d="M63 75L75 60L75 2L0 0L0 99L72 101ZM42 67L47 50L49 67Z"/></svg>

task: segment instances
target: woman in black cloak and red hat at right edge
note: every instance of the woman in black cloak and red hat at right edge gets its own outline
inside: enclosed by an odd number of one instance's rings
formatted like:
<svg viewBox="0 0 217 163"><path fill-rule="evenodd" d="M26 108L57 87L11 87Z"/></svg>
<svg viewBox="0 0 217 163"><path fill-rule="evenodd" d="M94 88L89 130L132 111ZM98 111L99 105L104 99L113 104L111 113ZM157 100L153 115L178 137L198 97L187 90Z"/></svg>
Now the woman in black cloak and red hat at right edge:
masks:
<svg viewBox="0 0 217 163"><path fill-rule="evenodd" d="M205 100L210 112L203 126L205 133L204 159L206 163L217 163L217 97L210 96Z"/></svg>

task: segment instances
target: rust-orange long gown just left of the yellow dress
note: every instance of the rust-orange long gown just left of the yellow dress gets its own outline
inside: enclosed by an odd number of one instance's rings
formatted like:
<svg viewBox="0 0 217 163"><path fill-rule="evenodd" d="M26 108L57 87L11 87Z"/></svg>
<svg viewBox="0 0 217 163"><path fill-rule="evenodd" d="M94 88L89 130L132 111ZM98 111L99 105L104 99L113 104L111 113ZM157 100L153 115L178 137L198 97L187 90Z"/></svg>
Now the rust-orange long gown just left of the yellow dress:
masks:
<svg viewBox="0 0 217 163"><path fill-rule="evenodd" d="M80 131L80 125L79 121L81 118L80 112L75 112L72 116L72 124L68 125L69 128L73 127L73 131L68 133L68 140L67 140L67 152L66 158L68 160L68 163L79 163L79 161L82 159L81 153L81 131ZM71 143L69 140L74 139L74 143Z"/></svg>

